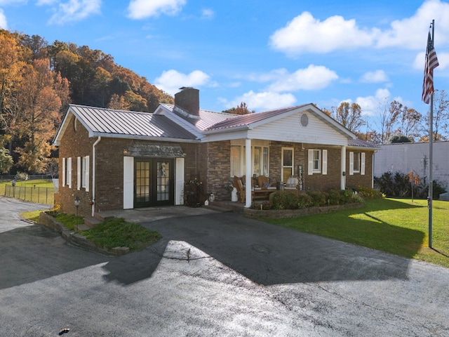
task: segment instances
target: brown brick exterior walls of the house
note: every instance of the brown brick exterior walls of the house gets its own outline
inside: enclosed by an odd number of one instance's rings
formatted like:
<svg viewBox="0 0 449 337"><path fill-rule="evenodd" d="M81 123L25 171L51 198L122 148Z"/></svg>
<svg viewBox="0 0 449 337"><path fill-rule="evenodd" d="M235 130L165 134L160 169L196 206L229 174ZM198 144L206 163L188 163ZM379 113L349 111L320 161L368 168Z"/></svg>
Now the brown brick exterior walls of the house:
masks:
<svg viewBox="0 0 449 337"><path fill-rule="evenodd" d="M88 132L79 121L74 128L74 117L68 121L67 128L60 144L60 186L55 196L61 211L76 213L74 206L75 197L81 199L78 209L80 216L91 216L91 201L93 201L93 143L98 138L88 138ZM141 142L142 140L140 140ZM123 150L132 145L133 140L121 138L102 138L96 145L96 190L95 212L112 209L123 209ZM170 143L167 143L168 145ZM231 171L229 140L212 143L171 143L180 145L185 153L185 181L197 178L203 182L204 199L210 192L215 195L215 200L230 200L229 172ZM294 173L297 174L297 166L303 168L304 191L340 189L340 147L322 147L300 143L274 142L269 145L269 179L271 183L281 181L281 156L283 147L294 149ZM328 150L328 174L321 173L309 176L307 174L307 153L310 149ZM347 150L347 174L346 185L348 187L363 185L371 187L371 172L373 170L373 152L363 150L366 153L365 175L354 173L349 176L349 152ZM354 151L361 152L361 151ZM81 187L77 190L77 162L76 157L89 156L89 191ZM72 188L67 184L62 186L62 158L72 158Z"/></svg>

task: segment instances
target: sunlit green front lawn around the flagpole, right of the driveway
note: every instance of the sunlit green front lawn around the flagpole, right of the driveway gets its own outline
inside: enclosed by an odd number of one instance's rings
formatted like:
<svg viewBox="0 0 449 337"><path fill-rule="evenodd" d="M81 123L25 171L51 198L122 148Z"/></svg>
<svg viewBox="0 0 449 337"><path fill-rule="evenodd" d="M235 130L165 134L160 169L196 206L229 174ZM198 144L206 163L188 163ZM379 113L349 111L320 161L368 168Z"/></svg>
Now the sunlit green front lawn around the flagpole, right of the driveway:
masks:
<svg viewBox="0 0 449 337"><path fill-rule="evenodd" d="M427 200L370 199L361 209L268 223L449 267L449 202L434 200L428 247Z"/></svg>

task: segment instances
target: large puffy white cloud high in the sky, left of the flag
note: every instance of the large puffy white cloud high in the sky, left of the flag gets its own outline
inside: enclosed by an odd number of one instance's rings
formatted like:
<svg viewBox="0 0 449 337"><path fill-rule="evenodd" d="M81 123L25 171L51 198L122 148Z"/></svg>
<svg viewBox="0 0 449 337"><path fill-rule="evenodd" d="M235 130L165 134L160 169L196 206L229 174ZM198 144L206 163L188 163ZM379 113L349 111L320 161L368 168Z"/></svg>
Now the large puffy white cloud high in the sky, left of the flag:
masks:
<svg viewBox="0 0 449 337"><path fill-rule="evenodd" d="M356 20L335 15L324 21L303 12L270 37L270 45L288 55L329 53L373 44L377 29L360 29Z"/></svg>

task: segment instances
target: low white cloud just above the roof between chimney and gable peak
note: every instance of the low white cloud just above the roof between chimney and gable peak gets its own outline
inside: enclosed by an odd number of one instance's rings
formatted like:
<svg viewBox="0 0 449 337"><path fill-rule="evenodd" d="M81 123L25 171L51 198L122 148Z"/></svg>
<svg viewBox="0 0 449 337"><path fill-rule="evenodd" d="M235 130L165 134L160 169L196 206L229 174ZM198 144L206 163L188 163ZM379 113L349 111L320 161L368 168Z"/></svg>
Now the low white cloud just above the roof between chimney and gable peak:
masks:
<svg viewBox="0 0 449 337"><path fill-rule="evenodd" d="M245 102L248 105L249 110L273 110L281 107L289 107L294 105L296 98L291 93L274 93L274 92L261 92L255 93L249 91L243 95L235 98L228 104L228 107L236 107L240 103Z"/></svg>

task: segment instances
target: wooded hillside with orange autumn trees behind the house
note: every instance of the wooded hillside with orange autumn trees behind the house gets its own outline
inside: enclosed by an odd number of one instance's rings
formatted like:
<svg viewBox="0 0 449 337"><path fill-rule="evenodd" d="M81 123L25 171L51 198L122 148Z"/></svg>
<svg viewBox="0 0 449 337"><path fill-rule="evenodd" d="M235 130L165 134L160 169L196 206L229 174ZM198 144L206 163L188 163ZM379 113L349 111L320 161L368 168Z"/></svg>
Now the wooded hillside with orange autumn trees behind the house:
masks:
<svg viewBox="0 0 449 337"><path fill-rule="evenodd" d="M46 173L69 103L153 112L173 98L102 51L0 29L0 173Z"/></svg>

